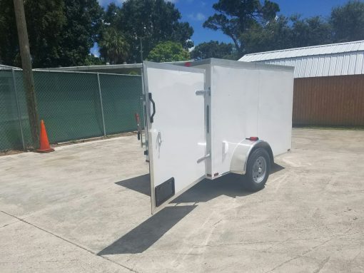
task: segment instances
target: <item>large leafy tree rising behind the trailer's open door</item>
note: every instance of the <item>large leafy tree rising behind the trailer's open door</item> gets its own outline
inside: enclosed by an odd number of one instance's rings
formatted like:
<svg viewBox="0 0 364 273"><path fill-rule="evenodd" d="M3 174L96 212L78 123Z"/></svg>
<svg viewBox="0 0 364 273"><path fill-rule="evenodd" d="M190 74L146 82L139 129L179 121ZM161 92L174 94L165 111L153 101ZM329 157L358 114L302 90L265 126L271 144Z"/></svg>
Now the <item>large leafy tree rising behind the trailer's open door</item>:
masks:
<svg viewBox="0 0 364 273"><path fill-rule="evenodd" d="M109 5L105 16L106 24L125 36L130 46L128 62L141 61L141 42L143 56L163 41L191 46L193 29L180 19L174 4L164 0L127 0L121 8Z"/></svg>

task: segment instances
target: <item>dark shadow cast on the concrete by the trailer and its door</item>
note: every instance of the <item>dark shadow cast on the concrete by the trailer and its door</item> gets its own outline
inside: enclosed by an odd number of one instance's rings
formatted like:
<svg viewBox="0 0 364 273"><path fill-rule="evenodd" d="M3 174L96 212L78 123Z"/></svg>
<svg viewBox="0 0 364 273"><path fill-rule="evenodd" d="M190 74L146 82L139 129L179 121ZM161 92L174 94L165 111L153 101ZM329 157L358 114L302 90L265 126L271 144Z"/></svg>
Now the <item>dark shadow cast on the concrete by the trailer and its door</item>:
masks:
<svg viewBox="0 0 364 273"><path fill-rule="evenodd" d="M271 173L283 169L282 166L275 164L272 166ZM136 190L144 195L150 195L150 176L148 174L116 182L116 184ZM235 198L253 193L244 189L241 175L228 174L212 181L202 180L171 202L171 204L180 203L179 205L163 208L126 233L126 235L123 235L120 239L101 250L101 252L98 252L98 255L144 252L168 230L171 230L183 217L192 212L199 202L208 202L221 195ZM185 205L183 203L193 203L193 205Z"/></svg>

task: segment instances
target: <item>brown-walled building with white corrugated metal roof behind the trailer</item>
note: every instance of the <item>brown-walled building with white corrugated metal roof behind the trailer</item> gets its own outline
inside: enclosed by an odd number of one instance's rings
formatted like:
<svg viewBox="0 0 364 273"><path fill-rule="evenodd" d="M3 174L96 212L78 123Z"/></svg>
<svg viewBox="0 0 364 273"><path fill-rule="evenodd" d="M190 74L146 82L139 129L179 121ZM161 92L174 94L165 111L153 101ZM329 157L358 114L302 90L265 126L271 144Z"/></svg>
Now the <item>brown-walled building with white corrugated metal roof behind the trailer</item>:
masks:
<svg viewBox="0 0 364 273"><path fill-rule="evenodd" d="M295 67L294 125L364 126L364 41L253 53L239 61Z"/></svg>

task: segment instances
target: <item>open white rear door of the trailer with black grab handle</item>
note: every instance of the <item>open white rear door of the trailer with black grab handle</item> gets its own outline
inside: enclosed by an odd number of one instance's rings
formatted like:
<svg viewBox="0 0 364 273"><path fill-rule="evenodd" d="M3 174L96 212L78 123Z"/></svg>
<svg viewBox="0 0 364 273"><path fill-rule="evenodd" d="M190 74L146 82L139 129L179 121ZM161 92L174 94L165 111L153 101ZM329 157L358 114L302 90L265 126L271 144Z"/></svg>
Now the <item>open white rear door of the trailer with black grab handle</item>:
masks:
<svg viewBox="0 0 364 273"><path fill-rule="evenodd" d="M145 62L148 155L152 212L205 177L206 155L201 69Z"/></svg>

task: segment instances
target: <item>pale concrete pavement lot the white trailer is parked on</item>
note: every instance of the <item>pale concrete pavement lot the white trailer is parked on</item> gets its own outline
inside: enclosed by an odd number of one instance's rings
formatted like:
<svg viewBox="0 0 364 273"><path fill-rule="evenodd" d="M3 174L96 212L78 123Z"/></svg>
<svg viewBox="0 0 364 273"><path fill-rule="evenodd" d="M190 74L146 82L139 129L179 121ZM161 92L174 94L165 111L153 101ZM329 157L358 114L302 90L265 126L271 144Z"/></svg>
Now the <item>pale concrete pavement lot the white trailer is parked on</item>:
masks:
<svg viewBox="0 0 364 273"><path fill-rule="evenodd" d="M293 130L266 188L150 215L136 137L0 158L0 272L364 272L364 131Z"/></svg>

